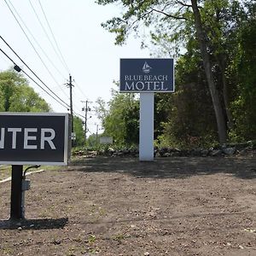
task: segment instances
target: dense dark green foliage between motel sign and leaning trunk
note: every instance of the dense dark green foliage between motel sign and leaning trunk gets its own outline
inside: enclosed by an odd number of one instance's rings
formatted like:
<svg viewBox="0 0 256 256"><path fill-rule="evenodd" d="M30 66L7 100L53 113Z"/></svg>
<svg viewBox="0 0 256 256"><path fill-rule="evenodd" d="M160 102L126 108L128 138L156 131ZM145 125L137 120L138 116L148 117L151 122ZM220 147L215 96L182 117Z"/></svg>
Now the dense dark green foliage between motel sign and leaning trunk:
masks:
<svg viewBox="0 0 256 256"><path fill-rule="evenodd" d="M162 94L156 101L157 118L161 113L160 146L203 147L218 139L212 102L201 63L189 52L176 65L176 92Z"/></svg>

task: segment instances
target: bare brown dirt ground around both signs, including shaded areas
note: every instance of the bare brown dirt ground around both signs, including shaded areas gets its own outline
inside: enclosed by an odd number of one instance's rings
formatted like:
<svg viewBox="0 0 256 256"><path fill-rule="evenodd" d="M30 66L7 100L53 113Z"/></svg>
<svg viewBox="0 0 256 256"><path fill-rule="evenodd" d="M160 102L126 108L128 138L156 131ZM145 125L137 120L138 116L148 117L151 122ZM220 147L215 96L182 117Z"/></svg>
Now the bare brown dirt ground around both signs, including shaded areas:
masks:
<svg viewBox="0 0 256 256"><path fill-rule="evenodd" d="M0 171L1 172L1 171ZM0 255L256 255L256 158L91 158L0 183Z"/></svg>

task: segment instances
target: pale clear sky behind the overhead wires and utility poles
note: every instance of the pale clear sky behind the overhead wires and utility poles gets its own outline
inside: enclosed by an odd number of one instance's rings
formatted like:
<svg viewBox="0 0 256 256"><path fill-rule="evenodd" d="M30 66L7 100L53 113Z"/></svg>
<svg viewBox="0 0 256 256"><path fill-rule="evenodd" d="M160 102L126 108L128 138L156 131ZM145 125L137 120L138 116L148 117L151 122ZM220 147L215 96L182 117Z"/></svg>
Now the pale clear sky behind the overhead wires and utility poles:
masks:
<svg viewBox="0 0 256 256"><path fill-rule="evenodd" d="M120 58L150 57L147 49L140 48L139 38L131 37L125 45L117 46L114 35L102 28L102 22L120 12L122 9L118 5L100 6L94 0L2 0L0 35L67 104L70 102L67 88L70 74L74 85L73 111L84 116L85 101L93 110L98 97L105 102L111 99L111 89L117 89L113 80L119 80ZM0 48L38 81L1 39ZM0 71L10 67L13 63L0 52ZM40 81L38 84L44 87ZM68 112L67 107L55 102L37 84L31 81L30 85L54 112ZM101 125L94 111L88 113L90 116L87 137L96 133L96 125Z"/></svg>

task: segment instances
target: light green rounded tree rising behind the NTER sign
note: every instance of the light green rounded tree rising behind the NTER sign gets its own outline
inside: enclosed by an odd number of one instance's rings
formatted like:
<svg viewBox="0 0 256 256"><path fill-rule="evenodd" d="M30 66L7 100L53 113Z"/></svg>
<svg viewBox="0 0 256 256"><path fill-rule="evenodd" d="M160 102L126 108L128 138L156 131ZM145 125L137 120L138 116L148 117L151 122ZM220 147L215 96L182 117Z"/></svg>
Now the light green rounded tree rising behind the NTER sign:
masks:
<svg viewBox="0 0 256 256"><path fill-rule="evenodd" d="M13 112L49 112L49 104L28 85L20 73L0 73L0 110Z"/></svg>

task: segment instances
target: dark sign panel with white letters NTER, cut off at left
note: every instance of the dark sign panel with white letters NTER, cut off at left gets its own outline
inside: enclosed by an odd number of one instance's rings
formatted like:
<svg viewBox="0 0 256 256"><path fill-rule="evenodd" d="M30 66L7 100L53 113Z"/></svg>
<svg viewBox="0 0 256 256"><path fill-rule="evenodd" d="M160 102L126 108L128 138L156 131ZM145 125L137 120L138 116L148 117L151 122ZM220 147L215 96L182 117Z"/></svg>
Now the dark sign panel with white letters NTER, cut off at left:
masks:
<svg viewBox="0 0 256 256"><path fill-rule="evenodd" d="M67 165L67 113L0 113L0 164Z"/></svg>

